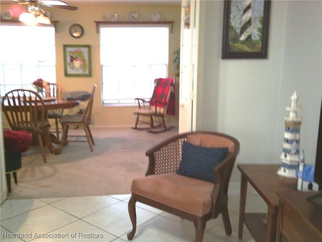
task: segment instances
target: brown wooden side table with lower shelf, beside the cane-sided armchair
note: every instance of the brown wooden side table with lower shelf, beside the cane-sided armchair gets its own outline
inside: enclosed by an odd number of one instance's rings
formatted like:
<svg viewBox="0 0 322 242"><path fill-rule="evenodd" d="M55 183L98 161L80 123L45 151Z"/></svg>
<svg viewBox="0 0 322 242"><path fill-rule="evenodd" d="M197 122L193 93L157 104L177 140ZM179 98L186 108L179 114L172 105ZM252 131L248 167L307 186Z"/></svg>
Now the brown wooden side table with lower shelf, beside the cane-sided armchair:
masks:
<svg viewBox="0 0 322 242"><path fill-rule="evenodd" d="M277 191L295 190L296 178L277 174L280 165L239 164L241 173L238 238L243 237L244 222L256 241L275 241L279 198ZM266 213L245 213L247 185L251 186L267 204ZM267 224L263 221L267 216Z"/></svg>

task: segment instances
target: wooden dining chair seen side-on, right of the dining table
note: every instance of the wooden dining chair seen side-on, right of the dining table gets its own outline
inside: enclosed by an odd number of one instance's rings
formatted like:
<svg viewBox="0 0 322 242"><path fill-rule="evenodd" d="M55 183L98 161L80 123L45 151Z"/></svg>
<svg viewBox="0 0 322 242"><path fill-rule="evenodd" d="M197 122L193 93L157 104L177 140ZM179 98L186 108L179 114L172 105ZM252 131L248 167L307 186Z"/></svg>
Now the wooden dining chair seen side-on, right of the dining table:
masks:
<svg viewBox="0 0 322 242"><path fill-rule="evenodd" d="M77 139L78 137L86 137L87 142L90 146L91 152L93 152L93 145L95 145L95 142L90 129L90 124L93 123L92 109L93 109L96 87L97 86L94 85L93 91L91 93L91 97L89 98L86 109L84 110L83 113L77 113L74 115L63 115L61 118L59 118L59 122L63 129L62 138L61 138L60 147L59 147L60 150L62 146L66 143L66 141L67 142L86 142L86 141ZM83 127L85 131L85 135L68 135L68 130L70 126ZM68 139L69 137L75 137L76 139L74 140Z"/></svg>

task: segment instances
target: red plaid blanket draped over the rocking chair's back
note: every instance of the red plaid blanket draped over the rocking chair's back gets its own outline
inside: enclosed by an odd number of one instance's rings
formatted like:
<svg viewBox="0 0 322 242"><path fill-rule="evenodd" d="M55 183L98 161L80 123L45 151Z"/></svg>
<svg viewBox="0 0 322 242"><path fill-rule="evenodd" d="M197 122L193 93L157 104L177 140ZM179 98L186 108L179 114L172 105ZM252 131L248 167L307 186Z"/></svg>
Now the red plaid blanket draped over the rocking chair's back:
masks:
<svg viewBox="0 0 322 242"><path fill-rule="evenodd" d="M159 78L159 81L156 83L154 87L152 98L150 100L150 105L156 105L158 107L165 106L166 99L173 81L174 78ZM156 104L154 103L154 100L156 100ZM171 93L167 114L175 115L174 93Z"/></svg>

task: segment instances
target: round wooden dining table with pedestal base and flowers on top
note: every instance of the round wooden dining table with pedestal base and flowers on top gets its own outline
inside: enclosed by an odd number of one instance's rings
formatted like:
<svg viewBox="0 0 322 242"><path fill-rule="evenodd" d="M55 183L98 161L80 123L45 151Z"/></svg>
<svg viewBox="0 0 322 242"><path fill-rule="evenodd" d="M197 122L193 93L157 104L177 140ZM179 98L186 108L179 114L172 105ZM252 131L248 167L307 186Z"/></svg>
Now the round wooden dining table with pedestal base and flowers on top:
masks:
<svg viewBox="0 0 322 242"><path fill-rule="evenodd" d="M56 99L56 98L43 98L45 104L46 113L50 109L65 109L65 108L72 108L78 106L80 101L79 100L63 100L63 99ZM5 105L6 106L6 105ZM40 105L41 106L41 105ZM53 144L60 144L60 141L57 137L51 132L45 132L44 134L45 143L47 148L49 149L51 154L60 154L61 149L55 148Z"/></svg>

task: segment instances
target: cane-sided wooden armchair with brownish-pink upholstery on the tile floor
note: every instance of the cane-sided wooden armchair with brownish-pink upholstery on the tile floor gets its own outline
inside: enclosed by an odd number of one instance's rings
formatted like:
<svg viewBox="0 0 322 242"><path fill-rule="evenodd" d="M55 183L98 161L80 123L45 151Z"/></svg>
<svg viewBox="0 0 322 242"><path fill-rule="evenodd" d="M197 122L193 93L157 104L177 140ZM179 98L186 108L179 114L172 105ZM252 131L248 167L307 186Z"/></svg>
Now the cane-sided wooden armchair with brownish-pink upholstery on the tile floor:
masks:
<svg viewBox="0 0 322 242"><path fill-rule="evenodd" d="M214 167L210 165L213 168L208 171L214 175L211 181L179 173L179 167L186 155L183 148L187 143L197 149L205 149L206 152L225 150L226 153L221 156L223 160ZM215 132L183 133L148 150L145 153L149 157L146 176L132 181L128 211L133 227L127 234L128 239L131 240L136 231L136 202L193 221L195 241L202 241L206 221L216 218L219 214L223 220L225 233L230 235L227 192L238 152L239 142L235 138ZM200 152L193 156L197 159L194 165L201 166L198 160L201 156ZM197 173L197 176L199 175Z"/></svg>

